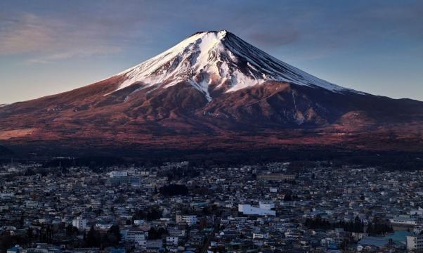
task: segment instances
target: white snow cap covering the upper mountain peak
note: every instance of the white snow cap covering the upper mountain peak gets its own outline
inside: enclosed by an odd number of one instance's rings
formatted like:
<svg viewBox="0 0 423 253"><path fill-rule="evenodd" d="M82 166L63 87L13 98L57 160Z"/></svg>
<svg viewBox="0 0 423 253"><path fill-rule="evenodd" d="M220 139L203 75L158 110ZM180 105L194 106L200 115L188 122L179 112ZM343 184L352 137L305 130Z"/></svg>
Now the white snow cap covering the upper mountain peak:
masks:
<svg viewBox="0 0 423 253"><path fill-rule="evenodd" d="M353 91L283 63L226 30L197 32L158 56L117 75L126 77L117 90L131 84L141 84L141 89L145 89L188 82L202 91L208 100L211 100L210 89L230 92L266 81L318 86L334 92Z"/></svg>

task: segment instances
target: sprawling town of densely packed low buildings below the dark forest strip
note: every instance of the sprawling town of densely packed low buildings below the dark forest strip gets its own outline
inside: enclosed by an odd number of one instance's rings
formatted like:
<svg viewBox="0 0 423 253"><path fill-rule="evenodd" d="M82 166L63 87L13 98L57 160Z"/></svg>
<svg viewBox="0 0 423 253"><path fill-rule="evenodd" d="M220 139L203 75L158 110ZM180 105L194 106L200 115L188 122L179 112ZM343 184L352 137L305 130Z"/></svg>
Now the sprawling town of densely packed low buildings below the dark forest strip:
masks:
<svg viewBox="0 0 423 253"><path fill-rule="evenodd" d="M421 171L11 163L0 176L5 253L423 249Z"/></svg>

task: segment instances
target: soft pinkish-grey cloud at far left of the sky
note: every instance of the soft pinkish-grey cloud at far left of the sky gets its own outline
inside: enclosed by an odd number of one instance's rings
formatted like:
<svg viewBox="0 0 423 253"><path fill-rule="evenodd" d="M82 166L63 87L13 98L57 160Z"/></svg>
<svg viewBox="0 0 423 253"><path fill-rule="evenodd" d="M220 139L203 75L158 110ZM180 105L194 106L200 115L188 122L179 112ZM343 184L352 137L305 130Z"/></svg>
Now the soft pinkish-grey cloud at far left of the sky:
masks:
<svg viewBox="0 0 423 253"><path fill-rule="evenodd" d="M18 19L1 20L0 55L25 54L27 63L49 63L121 51L107 35L95 23L82 25L23 13Z"/></svg>

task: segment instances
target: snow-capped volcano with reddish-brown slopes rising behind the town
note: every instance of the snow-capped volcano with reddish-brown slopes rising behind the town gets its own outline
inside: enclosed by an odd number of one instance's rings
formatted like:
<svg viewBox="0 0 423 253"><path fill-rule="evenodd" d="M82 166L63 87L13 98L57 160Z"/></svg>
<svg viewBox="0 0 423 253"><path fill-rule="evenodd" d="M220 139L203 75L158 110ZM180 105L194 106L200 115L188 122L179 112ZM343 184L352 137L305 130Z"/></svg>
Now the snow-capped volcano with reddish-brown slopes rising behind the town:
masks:
<svg viewBox="0 0 423 253"><path fill-rule="evenodd" d="M326 82L234 34L197 32L108 79L0 107L0 141L138 148L422 149L423 103Z"/></svg>

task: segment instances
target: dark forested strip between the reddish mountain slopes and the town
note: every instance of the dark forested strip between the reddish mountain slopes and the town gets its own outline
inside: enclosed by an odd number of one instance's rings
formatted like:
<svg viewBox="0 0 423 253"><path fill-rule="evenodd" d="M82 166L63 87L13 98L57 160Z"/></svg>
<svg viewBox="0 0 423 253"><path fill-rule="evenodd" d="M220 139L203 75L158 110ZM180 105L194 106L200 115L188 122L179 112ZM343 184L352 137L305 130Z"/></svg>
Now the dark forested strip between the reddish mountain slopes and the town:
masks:
<svg viewBox="0 0 423 253"><path fill-rule="evenodd" d="M50 150L41 150L40 145L15 146L13 160L16 162L41 162L46 167L89 166L108 167L117 164L160 165L164 162L189 161L197 166L233 166L239 164L265 164L268 162L307 163L326 161L334 168L343 165L376 167L382 170L417 170L423 166L422 152L351 150L333 147L285 147L247 148L240 150L204 149L172 150L143 149L141 146L72 148L50 143ZM25 150L26 148L26 150ZM47 147L44 147L44 149ZM35 154L39 153L39 155ZM57 157L69 158L57 158ZM56 158L55 158L56 157ZM71 158L72 157L72 158ZM0 164L9 163L10 157L0 159Z"/></svg>

